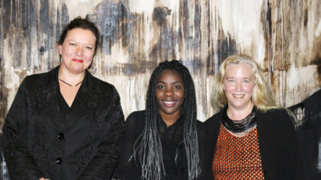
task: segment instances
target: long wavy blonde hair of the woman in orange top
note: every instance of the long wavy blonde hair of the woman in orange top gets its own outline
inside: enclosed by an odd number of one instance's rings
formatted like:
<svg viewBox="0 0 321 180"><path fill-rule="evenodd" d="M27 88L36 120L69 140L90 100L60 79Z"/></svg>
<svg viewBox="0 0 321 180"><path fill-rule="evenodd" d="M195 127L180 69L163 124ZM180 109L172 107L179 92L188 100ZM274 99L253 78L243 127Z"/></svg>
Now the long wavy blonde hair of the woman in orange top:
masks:
<svg viewBox="0 0 321 180"><path fill-rule="evenodd" d="M211 94L211 102L213 108L218 111L227 104L227 97L223 90L224 76L226 68L230 64L250 64L252 66L252 73L255 80L255 85L252 90L251 100L258 109L258 111L266 112L272 108L281 108L276 105L269 84L266 82L262 69L259 64L249 55L235 54L226 58L219 67L219 70L214 78L214 87Z"/></svg>

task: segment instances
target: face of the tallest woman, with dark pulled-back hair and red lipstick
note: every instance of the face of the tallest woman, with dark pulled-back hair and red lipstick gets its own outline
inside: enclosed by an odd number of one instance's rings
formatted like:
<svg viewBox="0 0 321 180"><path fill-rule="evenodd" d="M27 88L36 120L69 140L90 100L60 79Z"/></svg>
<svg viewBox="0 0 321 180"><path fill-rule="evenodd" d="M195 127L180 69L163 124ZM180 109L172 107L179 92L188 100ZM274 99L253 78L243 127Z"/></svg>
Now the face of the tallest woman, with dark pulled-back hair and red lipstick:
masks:
<svg viewBox="0 0 321 180"><path fill-rule="evenodd" d="M71 73L84 72L91 64L95 52L96 37L87 29L73 28L67 32L62 45L58 45L62 57L61 68Z"/></svg>

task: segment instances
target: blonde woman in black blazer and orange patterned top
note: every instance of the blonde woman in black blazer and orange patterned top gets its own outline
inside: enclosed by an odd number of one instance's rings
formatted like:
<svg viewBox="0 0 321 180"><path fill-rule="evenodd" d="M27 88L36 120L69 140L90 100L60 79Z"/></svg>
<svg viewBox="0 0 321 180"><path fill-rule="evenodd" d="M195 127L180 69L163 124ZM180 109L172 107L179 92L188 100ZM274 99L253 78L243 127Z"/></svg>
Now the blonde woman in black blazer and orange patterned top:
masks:
<svg viewBox="0 0 321 180"><path fill-rule="evenodd" d="M214 79L205 121L214 179L304 179L298 140L286 108L276 105L257 62L229 56Z"/></svg>

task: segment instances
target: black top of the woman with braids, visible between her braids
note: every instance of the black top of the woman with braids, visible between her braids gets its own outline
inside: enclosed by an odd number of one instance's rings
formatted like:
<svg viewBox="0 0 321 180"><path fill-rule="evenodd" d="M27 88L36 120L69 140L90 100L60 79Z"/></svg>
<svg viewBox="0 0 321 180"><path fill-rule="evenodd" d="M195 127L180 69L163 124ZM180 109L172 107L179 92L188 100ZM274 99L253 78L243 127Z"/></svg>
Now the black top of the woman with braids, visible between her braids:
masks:
<svg viewBox="0 0 321 180"><path fill-rule="evenodd" d="M184 144L184 118L180 117L173 125L167 127L166 122L163 120L160 123L159 132L161 136L162 148L163 148L163 162L165 167L165 173L162 173L161 179L188 179L188 165L187 155ZM115 177L127 180L127 179L140 179L141 178L141 166L139 165L139 159L136 155L136 161L132 158L129 162L129 158L133 153L133 145L136 142L137 137L143 131L145 125L145 110L132 112L126 120L127 132L124 137L123 146L118 162L118 167L115 173ZM206 129L202 122L197 121L197 130L199 137L199 146L205 139ZM139 144L139 142L137 142ZM200 148L200 151L204 148ZM136 153L137 154L137 153ZM204 154L204 153L203 153ZM201 170L203 169L204 160L200 155ZM201 174L202 176L202 174Z"/></svg>

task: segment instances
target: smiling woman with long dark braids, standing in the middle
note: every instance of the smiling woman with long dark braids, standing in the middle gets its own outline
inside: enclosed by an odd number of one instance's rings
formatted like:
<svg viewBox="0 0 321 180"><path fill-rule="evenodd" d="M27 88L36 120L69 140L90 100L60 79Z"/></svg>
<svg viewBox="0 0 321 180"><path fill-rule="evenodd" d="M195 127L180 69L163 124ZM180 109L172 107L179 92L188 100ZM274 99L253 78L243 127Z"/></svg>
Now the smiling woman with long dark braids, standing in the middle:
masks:
<svg viewBox="0 0 321 180"><path fill-rule="evenodd" d="M159 63L150 76L146 109L127 120L115 177L118 179L201 179L200 148L206 135L196 119L192 76L177 60Z"/></svg>

